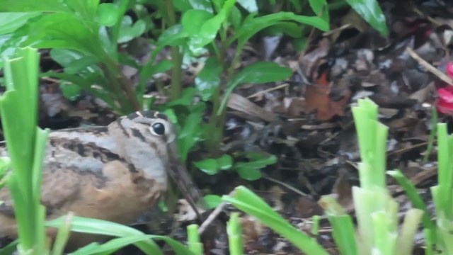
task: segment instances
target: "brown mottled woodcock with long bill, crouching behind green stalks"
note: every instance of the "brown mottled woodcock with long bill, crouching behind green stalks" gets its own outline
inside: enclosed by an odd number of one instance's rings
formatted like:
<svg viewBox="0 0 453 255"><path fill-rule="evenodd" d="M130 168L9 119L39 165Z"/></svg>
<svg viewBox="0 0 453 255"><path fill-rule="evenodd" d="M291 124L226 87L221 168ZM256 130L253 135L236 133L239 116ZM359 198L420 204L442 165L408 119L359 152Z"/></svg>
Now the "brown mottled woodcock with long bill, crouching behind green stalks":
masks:
<svg viewBox="0 0 453 255"><path fill-rule="evenodd" d="M0 152L7 156L6 147ZM131 224L166 192L167 174L184 187L183 193L199 196L185 169L172 166L178 164L176 155L173 125L155 111L122 116L107 127L52 131L42 176L41 199L48 219L72 211L77 216ZM4 201L0 236L16 238L7 188L0 191L0 200ZM69 249L97 240L72 233Z"/></svg>

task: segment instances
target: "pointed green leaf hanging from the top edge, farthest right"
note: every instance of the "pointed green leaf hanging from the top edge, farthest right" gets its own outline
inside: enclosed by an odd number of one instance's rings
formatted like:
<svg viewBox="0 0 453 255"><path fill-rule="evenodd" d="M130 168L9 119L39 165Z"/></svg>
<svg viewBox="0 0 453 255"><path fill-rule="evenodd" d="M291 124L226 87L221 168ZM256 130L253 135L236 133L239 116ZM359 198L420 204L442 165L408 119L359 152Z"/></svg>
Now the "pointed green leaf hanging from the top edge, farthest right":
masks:
<svg viewBox="0 0 453 255"><path fill-rule="evenodd" d="M389 36L386 19L376 0L346 0L350 6L362 16L372 28L385 37Z"/></svg>

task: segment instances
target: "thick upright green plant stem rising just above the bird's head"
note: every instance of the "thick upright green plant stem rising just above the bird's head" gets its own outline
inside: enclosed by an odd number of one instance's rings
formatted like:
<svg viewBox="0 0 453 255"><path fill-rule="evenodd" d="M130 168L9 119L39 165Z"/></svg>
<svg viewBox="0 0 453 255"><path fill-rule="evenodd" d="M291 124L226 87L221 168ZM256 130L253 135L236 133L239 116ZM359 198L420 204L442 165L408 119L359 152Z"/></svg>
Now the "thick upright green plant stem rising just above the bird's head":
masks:
<svg viewBox="0 0 453 255"><path fill-rule="evenodd" d="M176 14L173 8L173 1L165 0L165 14L164 19L168 26L176 24ZM183 77L183 55L179 50L179 46L171 47L171 60L173 61L173 68L171 69L171 89L170 98L176 100L180 97L182 91L181 80Z"/></svg>

